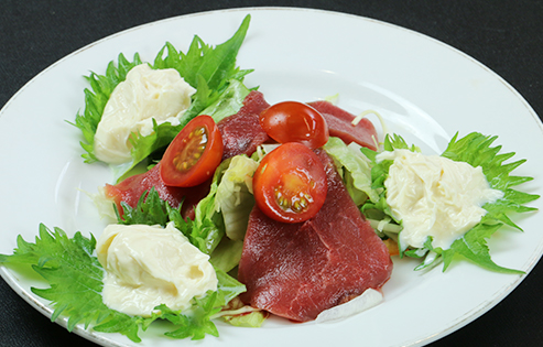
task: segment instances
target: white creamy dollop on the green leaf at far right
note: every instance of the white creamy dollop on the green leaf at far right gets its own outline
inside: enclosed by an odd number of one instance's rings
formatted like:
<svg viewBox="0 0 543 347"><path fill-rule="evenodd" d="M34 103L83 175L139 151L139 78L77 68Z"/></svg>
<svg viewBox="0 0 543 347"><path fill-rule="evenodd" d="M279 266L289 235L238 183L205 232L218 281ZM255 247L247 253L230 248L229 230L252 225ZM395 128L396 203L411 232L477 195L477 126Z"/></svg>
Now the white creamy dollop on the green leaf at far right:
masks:
<svg viewBox="0 0 543 347"><path fill-rule="evenodd" d="M480 221L482 205L503 196L490 188L480 166L409 150L383 152L377 160L394 161L384 186L392 215L403 221L401 245L421 248L432 236L433 247L448 249Z"/></svg>

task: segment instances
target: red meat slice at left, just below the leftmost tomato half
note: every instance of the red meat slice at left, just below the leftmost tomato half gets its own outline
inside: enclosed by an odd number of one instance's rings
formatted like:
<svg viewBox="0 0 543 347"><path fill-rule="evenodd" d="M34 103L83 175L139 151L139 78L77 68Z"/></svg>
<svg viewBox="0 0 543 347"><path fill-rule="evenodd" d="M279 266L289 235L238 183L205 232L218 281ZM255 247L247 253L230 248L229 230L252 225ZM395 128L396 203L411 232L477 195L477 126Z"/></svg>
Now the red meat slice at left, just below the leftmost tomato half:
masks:
<svg viewBox="0 0 543 347"><path fill-rule="evenodd" d="M209 182L205 182L189 188L167 186L160 177L159 163L150 171L128 177L116 185L106 184L105 193L106 197L115 202L119 214L122 216L121 202L135 207L141 195L154 187L159 196L170 203L172 207L178 208L183 202L182 215L185 218L194 219L194 206L209 193Z"/></svg>

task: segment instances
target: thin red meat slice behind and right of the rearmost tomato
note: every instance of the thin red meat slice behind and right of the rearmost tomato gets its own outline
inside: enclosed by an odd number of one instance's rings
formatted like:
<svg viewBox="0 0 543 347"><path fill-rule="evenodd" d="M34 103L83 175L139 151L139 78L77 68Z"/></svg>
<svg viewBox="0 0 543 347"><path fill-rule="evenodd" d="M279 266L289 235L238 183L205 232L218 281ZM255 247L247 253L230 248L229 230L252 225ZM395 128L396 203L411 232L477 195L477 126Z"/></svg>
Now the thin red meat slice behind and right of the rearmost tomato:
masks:
<svg viewBox="0 0 543 347"><path fill-rule="evenodd" d="M370 120L362 118L354 126L356 118L352 113L333 105L328 101L314 101L309 106L319 111L328 123L330 137L337 137L345 143L356 142L362 147L376 150L377 131Z"/></svg>

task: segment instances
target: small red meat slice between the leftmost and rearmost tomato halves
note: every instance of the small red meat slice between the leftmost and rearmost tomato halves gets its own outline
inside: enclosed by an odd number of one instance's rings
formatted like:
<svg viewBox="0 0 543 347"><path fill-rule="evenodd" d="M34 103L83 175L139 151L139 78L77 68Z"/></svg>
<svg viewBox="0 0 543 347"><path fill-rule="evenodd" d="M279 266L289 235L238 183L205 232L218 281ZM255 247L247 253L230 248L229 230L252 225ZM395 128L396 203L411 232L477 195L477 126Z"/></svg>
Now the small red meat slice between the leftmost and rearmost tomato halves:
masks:
<svg viewBox="0 0 543 347"><path fill-rule="evenodd" d="M222 160L238 155L251 155L257 148L270 138L260 127L259 115L270 105L260 91L252 90L243 100L238 113L217 123L222 135Z"/></svg>

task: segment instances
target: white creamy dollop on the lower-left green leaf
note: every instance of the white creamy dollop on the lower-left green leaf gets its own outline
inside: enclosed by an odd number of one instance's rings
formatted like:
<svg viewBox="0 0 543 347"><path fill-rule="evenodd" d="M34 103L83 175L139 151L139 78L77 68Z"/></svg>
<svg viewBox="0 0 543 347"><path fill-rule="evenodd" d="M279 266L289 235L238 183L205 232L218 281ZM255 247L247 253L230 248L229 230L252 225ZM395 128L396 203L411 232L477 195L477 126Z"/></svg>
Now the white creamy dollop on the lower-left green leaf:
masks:
<svg viewBox="0 0 543 347"><path fill-rule="evenodd" d="M160 304L186 310L194 296L217 290L209 257L173 224L109 225L96 249L106 269L104 303L119 312L149 316Z"/></svg>

